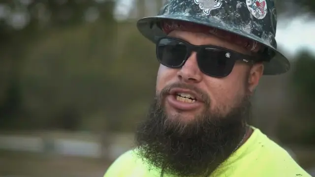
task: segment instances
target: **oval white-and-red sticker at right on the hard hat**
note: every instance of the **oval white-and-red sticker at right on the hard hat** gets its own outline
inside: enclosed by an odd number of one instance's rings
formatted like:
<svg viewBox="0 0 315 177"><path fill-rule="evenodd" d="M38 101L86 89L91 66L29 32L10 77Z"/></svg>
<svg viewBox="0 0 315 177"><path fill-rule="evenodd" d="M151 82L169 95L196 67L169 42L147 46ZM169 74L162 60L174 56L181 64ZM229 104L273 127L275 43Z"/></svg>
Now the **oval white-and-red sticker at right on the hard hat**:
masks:
<svg viewBox="0 0 315 177"><path fill-rule="evenodd" d="M246 0L247 8L251 14L257 19L263 19L267 15L266 0Z"/></svg>

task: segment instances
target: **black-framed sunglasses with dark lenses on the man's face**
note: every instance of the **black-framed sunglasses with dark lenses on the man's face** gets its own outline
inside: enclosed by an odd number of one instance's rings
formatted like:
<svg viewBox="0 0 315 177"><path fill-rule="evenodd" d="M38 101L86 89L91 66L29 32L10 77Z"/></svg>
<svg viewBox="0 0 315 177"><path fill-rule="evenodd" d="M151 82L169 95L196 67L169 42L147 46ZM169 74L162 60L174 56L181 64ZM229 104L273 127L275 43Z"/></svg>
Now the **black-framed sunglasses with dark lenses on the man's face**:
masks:
<svg viewBox="0 0 315 177"><path fill-rule="evenodd" d="M212 45L192 45L174 37L158 37L156 52L158 61L170 68L181 68L192 52L197 53L197 63L204 74L223 78L228 76L237 60L253 64L254 57Z"/></svg>

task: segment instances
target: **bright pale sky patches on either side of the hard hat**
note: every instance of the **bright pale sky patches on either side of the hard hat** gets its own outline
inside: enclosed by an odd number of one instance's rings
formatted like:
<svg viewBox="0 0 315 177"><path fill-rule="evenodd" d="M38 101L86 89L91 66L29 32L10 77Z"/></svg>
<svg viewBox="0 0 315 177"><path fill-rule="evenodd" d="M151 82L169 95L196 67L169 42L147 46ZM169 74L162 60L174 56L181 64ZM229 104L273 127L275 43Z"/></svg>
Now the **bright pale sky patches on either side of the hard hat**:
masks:
<svg viewBox="0 0 315 177"><path fill-rule="evenodd" d="M118 0L115 14L118 20L130 17L134 0ZM151 15L151 14L150 14ZM301 50L307 50L315 56L315 17L309 14L288 19L278 17L276 40L278 48L287 58L294 58Z"/></svg>

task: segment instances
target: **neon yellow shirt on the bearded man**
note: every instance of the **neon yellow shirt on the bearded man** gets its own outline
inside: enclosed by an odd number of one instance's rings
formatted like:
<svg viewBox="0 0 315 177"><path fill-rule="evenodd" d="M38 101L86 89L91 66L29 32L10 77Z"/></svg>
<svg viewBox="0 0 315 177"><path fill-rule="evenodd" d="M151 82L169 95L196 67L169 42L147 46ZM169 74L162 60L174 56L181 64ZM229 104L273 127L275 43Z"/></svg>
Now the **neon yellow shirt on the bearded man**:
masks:
<svg viewBox="0 0 315 177"><path fill-rule="evenodd" d="M279 145L259 129L211 177L311 177ZM121 155L104 177L160 177L161 170L148 170L133 152ZM174 177L164 174L163 177Z"/></svg>

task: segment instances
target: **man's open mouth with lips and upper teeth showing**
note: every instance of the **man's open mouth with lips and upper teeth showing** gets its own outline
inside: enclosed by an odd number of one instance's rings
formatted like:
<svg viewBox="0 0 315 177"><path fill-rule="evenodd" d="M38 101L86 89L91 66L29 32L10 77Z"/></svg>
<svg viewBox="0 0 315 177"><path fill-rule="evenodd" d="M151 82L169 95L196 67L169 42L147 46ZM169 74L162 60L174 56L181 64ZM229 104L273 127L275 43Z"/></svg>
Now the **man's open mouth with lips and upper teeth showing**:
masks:
<svg viewBox="0 0 315 177"><path fill-rule="evenodd" d="M194 110L203 105L202 99L189 89L172 89L166 102L178 110Z"/></svg>

